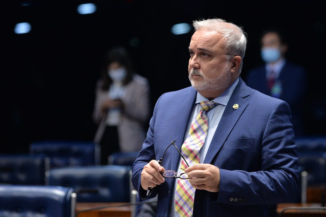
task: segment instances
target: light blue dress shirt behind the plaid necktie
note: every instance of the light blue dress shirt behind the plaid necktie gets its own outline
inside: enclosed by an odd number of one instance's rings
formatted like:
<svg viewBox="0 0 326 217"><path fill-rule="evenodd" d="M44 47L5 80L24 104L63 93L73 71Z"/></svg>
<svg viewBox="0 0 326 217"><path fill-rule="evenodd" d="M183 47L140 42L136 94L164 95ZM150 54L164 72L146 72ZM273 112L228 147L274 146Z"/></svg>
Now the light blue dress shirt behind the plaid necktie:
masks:
<svg viewBox="0 0 326 217"><path fill-rule="evenodd" d="M230 99L235 87L237 86L238 82L239 82L239 78L237 78L231 84L231 86L227 90L225 90L221 95L217 96L215 99L212 100L213 102L216 102L217 105L214 108L211 108L211 109L209 109L207 111L208 129L207 129L206 140L204 142L204 145L200 149L200 163L203 162L204 159L205 159L205 156L206 156L206 153L208 151L209 145L211 144L211 141L212 141L213 136L215 134L215 130L216 130L217 126L218 126L218 123L221 120L224 109L225 109L226 105L228 104L229 99ZM200 95L200 93L197 92L196 102L193 105L192 110L190 112L190 114L193 114L193 115L192 115L192 118L189 119L189 121L188 121L187 129L190 129L191 123L198 116L198 114L200 112L200 108L201 108L201 106L200 106L201 101L209 101L209 100L206 99L205 97ZM186 133L185 133L184 141L188 137L188 134L189 134L189 130L186 131ZM179 162L179 166L178 166L178 168L179 168L178 174L183 172L182 170L180 170L180 167L181 167L181 157L180 157L180 162ZM175 192L177 183L178 183L178 181L176 180L175 184L174 184L173 192ZM175 217L179 217L179 215L174 210L174 194L173 194L173 197L172 197L171 213L174 213Z"/></svg>

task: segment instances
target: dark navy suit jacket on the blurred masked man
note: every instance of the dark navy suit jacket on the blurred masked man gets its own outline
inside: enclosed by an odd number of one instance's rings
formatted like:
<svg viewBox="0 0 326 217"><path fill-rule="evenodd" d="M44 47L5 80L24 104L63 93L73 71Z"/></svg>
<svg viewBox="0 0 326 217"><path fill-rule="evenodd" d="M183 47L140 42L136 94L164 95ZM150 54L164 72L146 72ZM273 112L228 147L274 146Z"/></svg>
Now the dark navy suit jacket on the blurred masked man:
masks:
<svg viewBox="0 0 326 217"><path fill-rule="evenodd" d="M279 98L287 102L291 108L295 135L304 136L302 114L307 88L305 70L301 66L286 62L278 80L282 87L282 94ZM251 69L248 72L246 84L263 94L271 95L271 92L267 89L265 65Z"/></svg>

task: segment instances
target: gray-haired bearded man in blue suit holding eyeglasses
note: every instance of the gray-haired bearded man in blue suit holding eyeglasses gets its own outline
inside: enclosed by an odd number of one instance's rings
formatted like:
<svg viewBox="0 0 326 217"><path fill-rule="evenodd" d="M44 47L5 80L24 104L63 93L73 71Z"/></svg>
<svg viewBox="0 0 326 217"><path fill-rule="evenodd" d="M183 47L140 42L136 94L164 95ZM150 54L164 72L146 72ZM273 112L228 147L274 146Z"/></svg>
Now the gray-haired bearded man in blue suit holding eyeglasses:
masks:
<svg viewBox="0 0 326 217"><path fill-rule="evenodd" d="M179 215L175 210L179 181L161 173L183 172L179 169L182 158L174 147L167 147L176 140L181 150L200 102L215 102L207 111L200 163L185 168L190 178L186 181L195 193L190 212L180 216L268 216L269 204L288 202L299 191L290 108L249 88L239 77L246 48L241 28L221 19L193 25L188 65L192 87L157 100L146 140L133 164L133 185L141 199L158 194L156 216Z"/></svg>

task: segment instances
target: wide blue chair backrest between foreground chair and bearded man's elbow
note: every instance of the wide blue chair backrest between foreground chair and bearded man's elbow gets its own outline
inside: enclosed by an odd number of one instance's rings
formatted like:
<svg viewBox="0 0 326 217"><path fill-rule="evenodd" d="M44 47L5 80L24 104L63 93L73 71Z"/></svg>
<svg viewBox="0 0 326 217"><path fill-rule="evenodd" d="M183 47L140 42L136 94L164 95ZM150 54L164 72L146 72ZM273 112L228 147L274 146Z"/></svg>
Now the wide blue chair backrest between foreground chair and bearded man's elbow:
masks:
<svg viewBox="0 0 326 217"><path fill-rule="evenodd" d="M46 184L74 188L78 202L129 202L130 166L79 166L51 169Z"/></svg>

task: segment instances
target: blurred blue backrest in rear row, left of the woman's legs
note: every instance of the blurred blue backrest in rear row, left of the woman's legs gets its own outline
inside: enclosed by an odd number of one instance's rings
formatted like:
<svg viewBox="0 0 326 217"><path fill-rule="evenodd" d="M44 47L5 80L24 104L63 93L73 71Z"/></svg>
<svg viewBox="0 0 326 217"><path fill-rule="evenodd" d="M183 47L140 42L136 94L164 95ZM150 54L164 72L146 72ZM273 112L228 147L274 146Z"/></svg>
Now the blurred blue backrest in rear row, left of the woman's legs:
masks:
<svg viewBox="0 0 326 217"><path fill-rule="evenodd" d="M98 165L100 156L98 144L82 141L35 141L30 144L29 152L48 156L51 168Z"/></svg>

